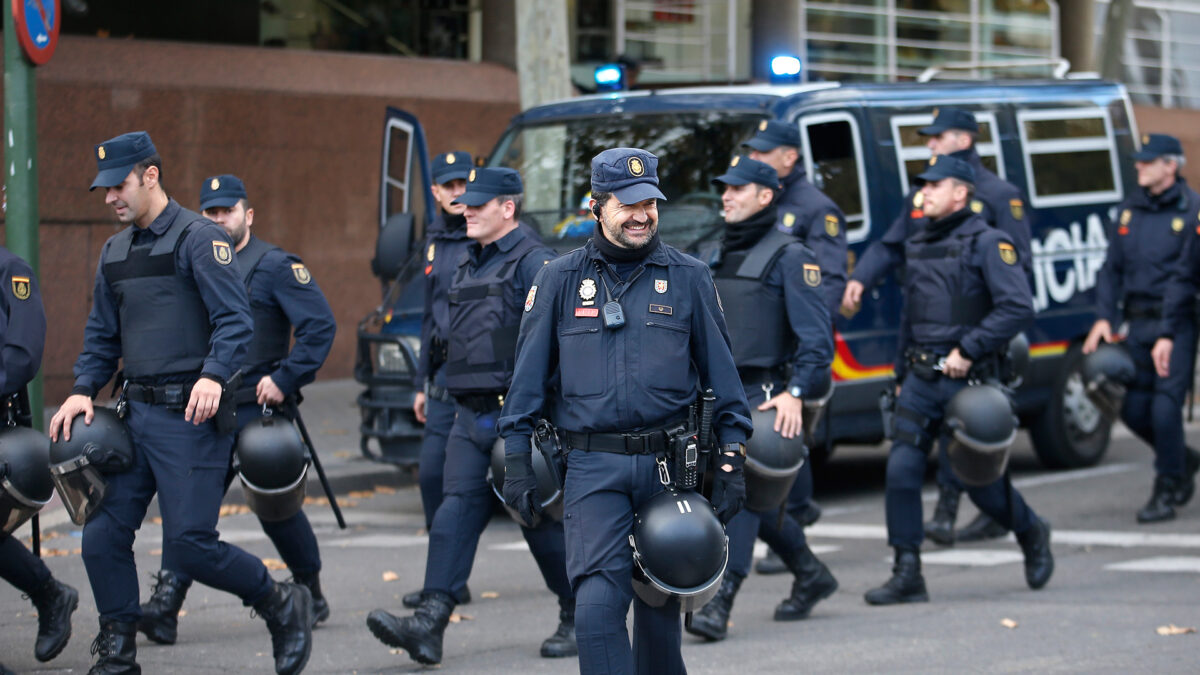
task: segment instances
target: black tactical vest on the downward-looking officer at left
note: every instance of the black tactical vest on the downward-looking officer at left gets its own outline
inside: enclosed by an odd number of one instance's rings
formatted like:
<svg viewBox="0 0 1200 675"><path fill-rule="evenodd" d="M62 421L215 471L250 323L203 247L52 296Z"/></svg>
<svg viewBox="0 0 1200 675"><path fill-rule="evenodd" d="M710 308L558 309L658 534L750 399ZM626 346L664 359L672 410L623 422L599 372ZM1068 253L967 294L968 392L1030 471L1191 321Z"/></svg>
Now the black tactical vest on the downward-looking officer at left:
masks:
<svg viewBox="0 0 1200 675"><path fill-rule="evenodd" d="M130 226L113 237L104 279L116 297L121 357L130 380L199 372L209 356L212 324L196 281L179 274L175 256L199 216L180 209L167 232ZM133 244L134 232L143 232Z"/></svg>

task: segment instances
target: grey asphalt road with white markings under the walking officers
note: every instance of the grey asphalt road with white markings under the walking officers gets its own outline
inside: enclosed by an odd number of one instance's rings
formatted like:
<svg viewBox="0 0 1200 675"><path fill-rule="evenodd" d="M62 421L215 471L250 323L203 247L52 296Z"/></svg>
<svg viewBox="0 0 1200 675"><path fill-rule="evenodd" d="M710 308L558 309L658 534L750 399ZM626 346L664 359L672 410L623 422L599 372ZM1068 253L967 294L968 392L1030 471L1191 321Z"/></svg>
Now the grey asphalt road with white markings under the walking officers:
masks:
<svg viewBox="0 0 1200 675"><path fill-rule="evenodd" d="M401 611L400 597L421 585L426 539L420 500L408 477L358 458L353 383L313 388L306 411L335 483L347 496L350 528L341 531L326 506L308 514L322 543L322 583L332 617L314 633L307 673L424 670L367 632L374 608ZM324 396L324 399L323 399ZM349 398L347 398L349 396ZM1200 444L1200 423L1189 425ZM1057 571L1042 591L1025 586L1014 540L953 549L929 543L924 573L932 601L868 607L862 595L887 579L890 549L883 528L882 447L839 448L817 477L824 516L809 528L810 544L833 569L840 590L802 622L772 620L790 577L751 575L733 609L730 638L703 644L684 638L694 674L714 673L1195 673L1200 634L1160 635L1159 627L1200 628L1200 498L1170 522L1139 526L1134 512L1150 494L1148 448L1118 429L1104 461L1092 468L1048 472L1022 435L1013 459L1016 485L1054 526ZM926 515L932 508L931 482ZM379 489L374 489L379 485ZM312 491L313 486L310 486ZM236 506L221 521L226 540L277 558L257 520ZM28 601L0 585L0 662L17 673L85 673L96 610L78 555L79 532L54 508L46 542L54 573L80 590L74 637L53 662L34 659L36 617ZM968 502L959 522L974 515ZM136 544L148 579L160 562L161 531L150 521ZM761 551L760 551L761 552ZM286 579L287 572L274 572ZM574 659L539 658L553 632L557 605L542 586L517 527L503 516L484 533L470 589L446 631L446 673L574 673ZM139 639L138 659L154 673L271 673L265 625L229 595L196 586L180 619L180 641Z"/></svg>

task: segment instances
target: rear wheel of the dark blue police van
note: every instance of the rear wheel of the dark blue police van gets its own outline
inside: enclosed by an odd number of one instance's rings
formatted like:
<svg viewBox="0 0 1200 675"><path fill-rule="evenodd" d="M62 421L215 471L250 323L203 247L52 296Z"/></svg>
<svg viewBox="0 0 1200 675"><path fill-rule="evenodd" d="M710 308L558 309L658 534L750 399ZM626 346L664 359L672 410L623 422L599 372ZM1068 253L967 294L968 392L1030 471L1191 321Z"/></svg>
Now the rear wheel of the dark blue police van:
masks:
<svg viewBox="0 0 1200 675"><path fill-rule="evenodd" d="M1076 344L1062 360L1045 410L1030 425L1033 450L1050 468L1092 466L1109 449L1112 420L1084 393L1082 362Z"/></svg>

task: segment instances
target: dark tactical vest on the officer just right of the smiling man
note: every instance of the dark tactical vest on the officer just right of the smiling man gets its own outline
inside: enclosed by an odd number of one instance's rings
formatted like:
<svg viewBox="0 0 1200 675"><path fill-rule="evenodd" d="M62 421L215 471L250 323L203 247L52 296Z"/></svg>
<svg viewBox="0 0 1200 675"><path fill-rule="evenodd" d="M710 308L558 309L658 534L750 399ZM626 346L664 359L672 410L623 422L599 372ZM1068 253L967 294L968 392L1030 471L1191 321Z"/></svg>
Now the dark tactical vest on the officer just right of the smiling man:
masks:
<svg viewBox="0 0 1200 675"><path fill-rule="evenodd" d="M726 253L713 270L738 368L772 368L787 360L793 336L784 295L763 281L796 238L770 229L750 249Z"/></svg>

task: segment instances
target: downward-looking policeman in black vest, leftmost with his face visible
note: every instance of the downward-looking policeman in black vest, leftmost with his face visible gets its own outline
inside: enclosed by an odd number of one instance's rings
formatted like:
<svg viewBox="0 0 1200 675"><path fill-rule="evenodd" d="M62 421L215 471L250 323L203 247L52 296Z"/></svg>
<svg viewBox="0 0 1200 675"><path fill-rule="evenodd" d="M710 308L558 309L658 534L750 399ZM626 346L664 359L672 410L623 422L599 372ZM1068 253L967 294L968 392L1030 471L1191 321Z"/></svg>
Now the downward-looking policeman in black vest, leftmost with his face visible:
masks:
<svg viewBox="0 0 1200 675"><path fill-rule="evenodd" d="M163 557L253 605L270 629L276 671L299 673L312 649L308 589L272 581L258 557L217 539L233 430L216 422L252 328L232 241L167 196L162 160L145 132L101 143L95 157L91 189L103 187L118 220L131 225L104 243L74 388L50 420L54 440L70 438L77 416L90 424L91 399L124 359L133 466L109 476L104 501L83 530L100 611L91 673L140 671L133 534L156 492Z"/></svg>

